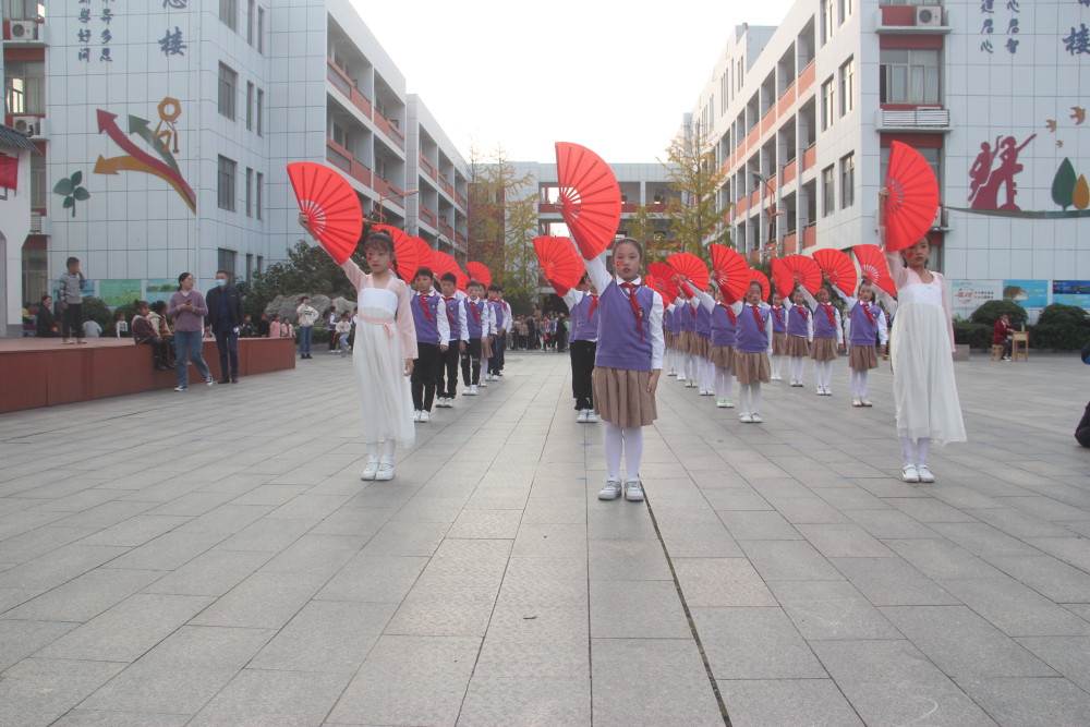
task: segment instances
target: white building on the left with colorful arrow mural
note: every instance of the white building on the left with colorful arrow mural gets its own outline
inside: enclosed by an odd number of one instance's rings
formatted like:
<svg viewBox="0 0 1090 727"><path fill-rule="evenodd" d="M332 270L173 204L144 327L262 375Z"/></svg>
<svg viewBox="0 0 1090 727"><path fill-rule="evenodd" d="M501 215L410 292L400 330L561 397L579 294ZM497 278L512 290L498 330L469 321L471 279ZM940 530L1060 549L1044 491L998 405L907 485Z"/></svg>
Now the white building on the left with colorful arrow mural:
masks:
<svg viewBox="0 0 1090 727"><path fill-rule="evenodd" d="M304 237L284 169L300 160L341 171L365 214L464 252L465 165L349 0L4 12L5 120L44 153L22 294L70 255L111 305L183 271L246 278Z"/></svg>

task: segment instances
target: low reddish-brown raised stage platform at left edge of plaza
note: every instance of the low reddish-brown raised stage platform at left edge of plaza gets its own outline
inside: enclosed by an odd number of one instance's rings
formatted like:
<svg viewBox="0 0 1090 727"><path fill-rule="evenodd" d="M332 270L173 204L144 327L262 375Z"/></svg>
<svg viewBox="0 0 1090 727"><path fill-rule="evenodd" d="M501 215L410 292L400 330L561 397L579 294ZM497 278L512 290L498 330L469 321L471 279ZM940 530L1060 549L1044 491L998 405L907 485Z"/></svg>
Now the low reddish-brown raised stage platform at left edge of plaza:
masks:
<svg viewBox="0 0 1090 727"><path fill-rule="evenodd" d="M204 360L219 378L215 340L205 340ZM239 339L239 375L295 367L288 338ZM64 346L59 338L0 338L0 413L173 388L173 371L152 367L152 348L131 338L92 338ZM201 383L190 365L190 385Z"/></svg>

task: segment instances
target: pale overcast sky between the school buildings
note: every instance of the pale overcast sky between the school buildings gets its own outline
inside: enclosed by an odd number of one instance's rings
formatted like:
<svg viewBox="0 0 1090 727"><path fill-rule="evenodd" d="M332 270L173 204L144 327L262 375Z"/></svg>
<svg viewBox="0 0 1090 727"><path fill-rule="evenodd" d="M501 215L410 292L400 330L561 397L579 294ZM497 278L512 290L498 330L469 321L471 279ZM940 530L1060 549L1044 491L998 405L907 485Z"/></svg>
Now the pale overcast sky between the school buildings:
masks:
<svg viewBox="0 0 1090 727"><path fill-rule="evenodd" d="M550 161L553 143L654 161L735 25L775 25L790 0L352 0L463 155L502 144Z"/></svg>

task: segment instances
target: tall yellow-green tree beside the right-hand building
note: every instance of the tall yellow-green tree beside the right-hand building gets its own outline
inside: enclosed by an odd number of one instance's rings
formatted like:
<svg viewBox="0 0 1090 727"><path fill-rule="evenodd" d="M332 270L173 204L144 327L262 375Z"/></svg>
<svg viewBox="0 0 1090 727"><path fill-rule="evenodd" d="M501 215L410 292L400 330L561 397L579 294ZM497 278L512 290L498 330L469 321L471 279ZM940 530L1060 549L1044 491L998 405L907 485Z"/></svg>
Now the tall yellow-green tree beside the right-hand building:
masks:
<svg viewBox="0 0 1090 727"><path fill-rule="evenodd" d="M680 194L666 207L680 249L700 255L713 242L734 246L725 223L730 205L720 207L717 199L725 174L700 124L687 124L659 163L670 189Z"/></svg>

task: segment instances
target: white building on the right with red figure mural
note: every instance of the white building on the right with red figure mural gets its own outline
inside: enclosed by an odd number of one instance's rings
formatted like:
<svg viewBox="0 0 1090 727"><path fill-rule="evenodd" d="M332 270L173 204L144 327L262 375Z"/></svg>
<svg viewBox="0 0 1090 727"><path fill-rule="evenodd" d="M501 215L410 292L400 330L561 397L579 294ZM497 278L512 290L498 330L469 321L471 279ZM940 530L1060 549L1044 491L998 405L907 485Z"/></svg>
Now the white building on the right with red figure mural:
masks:
<svg viewBox="0 0 1090 727"><path fill-rule="evenodd" d="M938 177L932 264L959 312L1090 308L1088 23L1078 0L799 0L777 27L739 26L691 113L738 249L875 242L901 141Z"/></svg>

